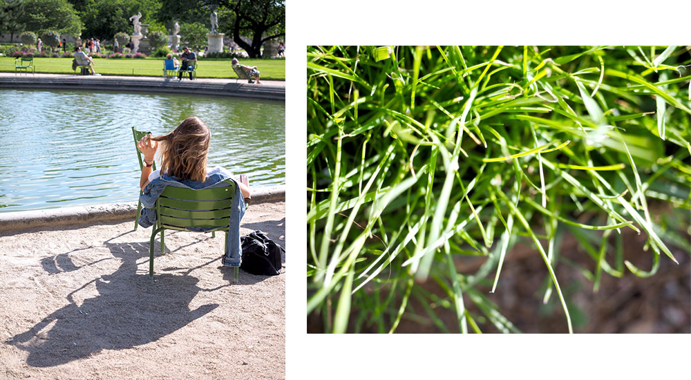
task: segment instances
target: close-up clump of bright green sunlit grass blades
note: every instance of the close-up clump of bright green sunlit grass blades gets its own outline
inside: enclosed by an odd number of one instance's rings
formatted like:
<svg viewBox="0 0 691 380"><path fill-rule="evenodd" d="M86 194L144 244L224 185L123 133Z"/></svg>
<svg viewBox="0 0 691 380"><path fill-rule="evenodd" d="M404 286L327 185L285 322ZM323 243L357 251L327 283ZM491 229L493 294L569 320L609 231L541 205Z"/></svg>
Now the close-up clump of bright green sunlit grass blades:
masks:
<svg viewBox="0 0 691 380"><path fill-rule="evenodd" d="M439 326L448 307L453 330L518 331L477 286L495 289L522 241L572 332L563 234L591 257L579 270L595 291L653 276L688 242L688 220L650 206L691 209L690 67L675 46L308 48L307 314L325 332L394 332L415 299L430 306L412 318ZM626 260L625 229L647 237L650 267ZM461 256L486 261L458 273Z"/></svg>

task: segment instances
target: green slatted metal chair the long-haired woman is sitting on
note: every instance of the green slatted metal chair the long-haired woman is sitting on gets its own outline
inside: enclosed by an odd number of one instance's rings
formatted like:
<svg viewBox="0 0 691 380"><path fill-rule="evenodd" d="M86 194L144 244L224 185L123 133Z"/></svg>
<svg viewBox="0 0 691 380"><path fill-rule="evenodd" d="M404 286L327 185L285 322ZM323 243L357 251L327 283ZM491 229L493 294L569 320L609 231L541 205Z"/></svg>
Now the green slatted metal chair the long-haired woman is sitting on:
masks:
<svg viewBox="0 0 691 380"><path fill-rule="evenodd" d="M153 239L160 232L161 254L163 254L166 229L189 231L186 227L209 227L214 233L225 231L225 246L227 247L236 184L233 180L224 182L228 186L215 189L193 190L168 186L163 190L156 200L156 224L153 226L149 245L149 276L151 278L153 278ZM233 281L238 282L240 268L234 269Z"/></svg>

